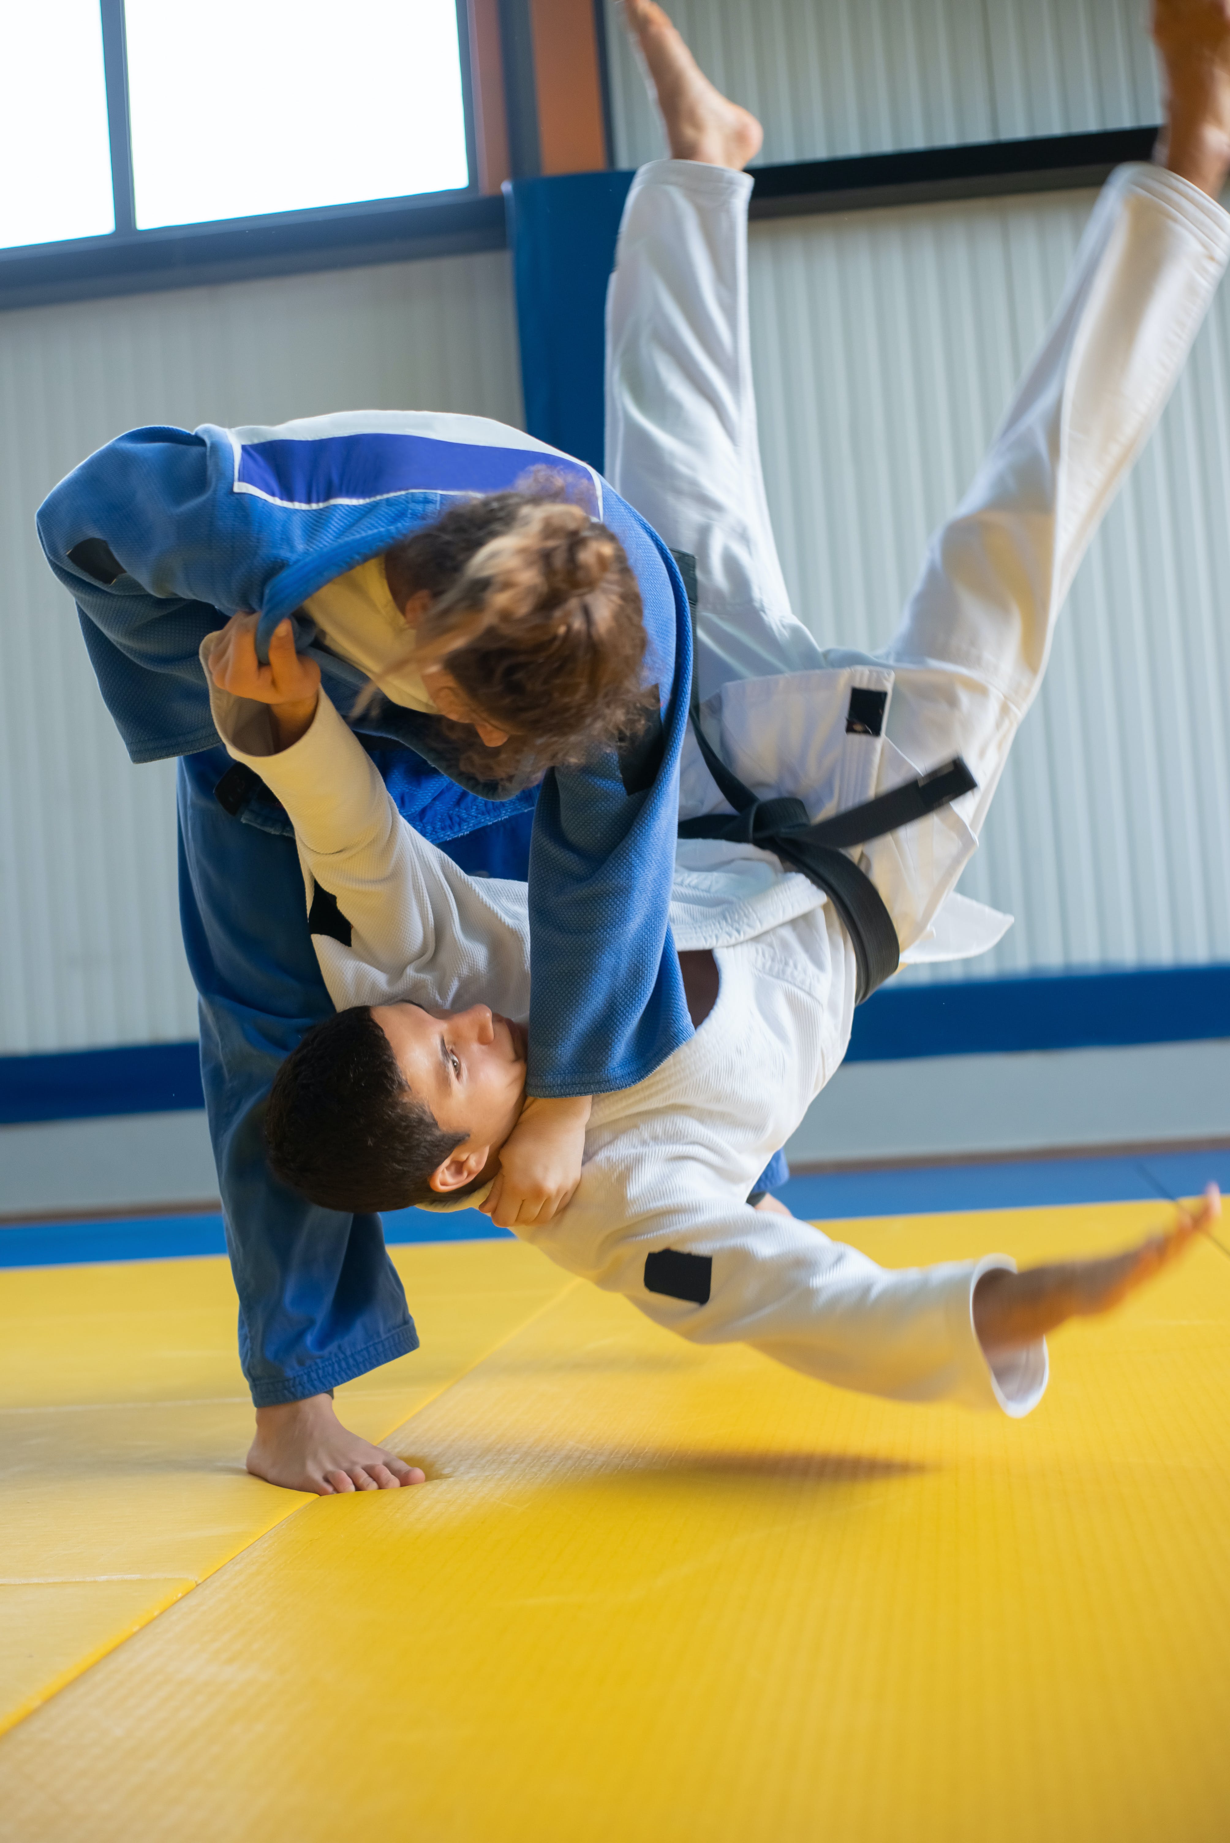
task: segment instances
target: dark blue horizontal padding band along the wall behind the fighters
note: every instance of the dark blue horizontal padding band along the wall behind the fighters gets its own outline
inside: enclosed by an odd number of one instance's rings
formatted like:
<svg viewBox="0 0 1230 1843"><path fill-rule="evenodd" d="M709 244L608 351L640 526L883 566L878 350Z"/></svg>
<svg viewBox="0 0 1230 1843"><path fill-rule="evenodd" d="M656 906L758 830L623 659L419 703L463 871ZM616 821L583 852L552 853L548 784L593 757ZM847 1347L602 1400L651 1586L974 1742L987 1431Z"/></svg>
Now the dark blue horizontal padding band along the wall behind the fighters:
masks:
<svg viewBox="0 0 1230 1843"><path fill-rule="evenodd" d="M1230 966L886 986L854 1012L847 1060L994 1056L1206 1038L1230 1038ZM0 1126L203 1106L195 1043L0 1056Z"/></svg>

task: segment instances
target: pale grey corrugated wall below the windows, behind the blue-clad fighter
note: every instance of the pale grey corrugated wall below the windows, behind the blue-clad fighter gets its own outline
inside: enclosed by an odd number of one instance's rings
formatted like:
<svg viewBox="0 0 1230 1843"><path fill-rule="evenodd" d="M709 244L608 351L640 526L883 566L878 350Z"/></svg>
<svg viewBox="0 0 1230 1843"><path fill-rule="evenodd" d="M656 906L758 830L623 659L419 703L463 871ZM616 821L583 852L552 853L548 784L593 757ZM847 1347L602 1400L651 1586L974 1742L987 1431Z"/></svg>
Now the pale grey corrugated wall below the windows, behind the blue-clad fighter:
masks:
<svg viewBox="0 0 1230 1843"><path fill-rule="evenodd" d="M505 254L0 315L0 1054L197 1032L175 770L129 765L35 507L136 424L368 405L521 420Z"/></svg>

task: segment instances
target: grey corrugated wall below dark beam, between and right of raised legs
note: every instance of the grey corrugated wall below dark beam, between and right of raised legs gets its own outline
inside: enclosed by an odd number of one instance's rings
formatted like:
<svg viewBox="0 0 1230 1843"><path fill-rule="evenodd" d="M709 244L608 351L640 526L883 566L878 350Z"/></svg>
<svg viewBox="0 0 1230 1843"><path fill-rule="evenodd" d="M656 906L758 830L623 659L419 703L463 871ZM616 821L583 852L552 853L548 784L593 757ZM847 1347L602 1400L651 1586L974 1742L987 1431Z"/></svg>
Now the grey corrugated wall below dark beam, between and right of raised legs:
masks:
<svg viewBox="0 0 1230 1843"><path fill-rule="evenodd" d="M1055 304L1092 194L764 223L775 531L825 645L882 645ZM1230 291L1086 558L963 890L1016 916L935 977L1230 958ZM908 975L913 979L924 973Z"/></svg>

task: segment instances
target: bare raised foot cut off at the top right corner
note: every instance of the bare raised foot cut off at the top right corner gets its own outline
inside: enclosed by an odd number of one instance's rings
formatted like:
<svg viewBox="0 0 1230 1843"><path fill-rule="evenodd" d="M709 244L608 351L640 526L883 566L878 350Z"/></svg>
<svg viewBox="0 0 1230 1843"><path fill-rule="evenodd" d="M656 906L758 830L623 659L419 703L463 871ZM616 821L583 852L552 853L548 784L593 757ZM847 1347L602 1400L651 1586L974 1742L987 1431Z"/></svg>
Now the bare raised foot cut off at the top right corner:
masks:
<svg viewBox="0 0 1230 1843"><path fill-rule="evenodd" d="M1230 170L1230 0L1153 0L1166 79L1155 158L1217 197Z"/></svg>

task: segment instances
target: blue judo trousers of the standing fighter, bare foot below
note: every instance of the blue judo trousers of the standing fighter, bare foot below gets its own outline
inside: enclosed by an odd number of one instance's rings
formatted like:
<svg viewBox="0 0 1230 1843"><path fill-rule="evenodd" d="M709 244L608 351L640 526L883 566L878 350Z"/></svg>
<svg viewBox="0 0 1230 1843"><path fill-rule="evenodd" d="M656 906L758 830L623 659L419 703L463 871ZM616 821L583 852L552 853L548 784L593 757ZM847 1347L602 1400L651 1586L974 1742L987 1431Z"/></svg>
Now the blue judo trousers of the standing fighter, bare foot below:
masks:
<svg viewBox="0 0 1230 1843"><path fill-rule="evenodd" d="M376 759L390 785L405 785L407 765L418 761L405 750ZM295 840L217 802L230 767L223 748L179 761L179 905L239 1294L239 1358L252 1401L265 1408L403 1356L418 1347L418 1332L379 1216L319 1209L265 1163L261 1119L278 1063L333 1004L308 933ZM438 780L425 763L424 772ZM532 816L514 813L440 848L464 870L525 879ZM784 1178L777 1154L757 1189Z"/></svg>

